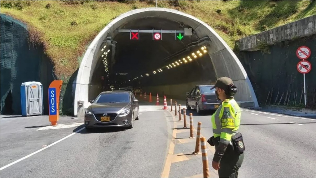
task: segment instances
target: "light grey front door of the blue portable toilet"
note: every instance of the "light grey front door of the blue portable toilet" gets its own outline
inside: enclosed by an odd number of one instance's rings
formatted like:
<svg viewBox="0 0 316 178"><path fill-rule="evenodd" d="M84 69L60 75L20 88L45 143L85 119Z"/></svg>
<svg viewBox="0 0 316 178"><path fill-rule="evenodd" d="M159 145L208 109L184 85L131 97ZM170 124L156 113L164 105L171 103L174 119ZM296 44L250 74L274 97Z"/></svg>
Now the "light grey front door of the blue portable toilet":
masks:
<svg viewBox="0 0 316 178"><path fill-rule="evenodd" d="M42 114L41 87L37 84L28 86L28 106L30 115Z"/></svg>

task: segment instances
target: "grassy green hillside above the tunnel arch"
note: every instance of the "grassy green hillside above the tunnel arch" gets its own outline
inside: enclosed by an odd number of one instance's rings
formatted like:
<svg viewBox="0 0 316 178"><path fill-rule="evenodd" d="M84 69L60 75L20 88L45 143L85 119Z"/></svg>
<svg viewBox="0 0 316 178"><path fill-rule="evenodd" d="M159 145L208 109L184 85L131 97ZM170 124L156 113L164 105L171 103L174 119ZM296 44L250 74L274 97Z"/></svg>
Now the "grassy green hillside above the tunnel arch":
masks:
<svg viewBox="0 0 316 178"><path fill-rule="evenodd" d="M27 23L44 43L59 78L79 67L86 46L118 15L155 7L155 1L1 1L1 13ZM209 24L231 48L234 41L316 14L315 1L158 1Z"/></svg>

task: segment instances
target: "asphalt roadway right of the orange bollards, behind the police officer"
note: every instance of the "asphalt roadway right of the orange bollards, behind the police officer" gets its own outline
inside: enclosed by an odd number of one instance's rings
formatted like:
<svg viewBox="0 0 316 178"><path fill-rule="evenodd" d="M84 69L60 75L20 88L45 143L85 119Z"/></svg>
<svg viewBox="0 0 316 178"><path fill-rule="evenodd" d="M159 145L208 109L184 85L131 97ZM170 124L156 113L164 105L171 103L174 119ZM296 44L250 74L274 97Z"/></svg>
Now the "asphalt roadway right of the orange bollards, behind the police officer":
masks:
<svg viewBox="0 0 316 178"><path fill-rule="evenodd" d="M239 131L246 152L239 177L316 177L316 119L242 110ZM212 113L190 112L194 127L200 121L201 134L212 136Z"/></svg>

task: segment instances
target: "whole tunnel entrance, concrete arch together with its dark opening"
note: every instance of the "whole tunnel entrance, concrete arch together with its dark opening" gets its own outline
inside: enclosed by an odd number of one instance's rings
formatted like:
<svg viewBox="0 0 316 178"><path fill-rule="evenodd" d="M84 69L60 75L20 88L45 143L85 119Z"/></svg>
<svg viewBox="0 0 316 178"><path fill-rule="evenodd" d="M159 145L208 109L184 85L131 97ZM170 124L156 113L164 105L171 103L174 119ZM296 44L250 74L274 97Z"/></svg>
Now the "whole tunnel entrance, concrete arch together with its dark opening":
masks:
<svg viewBox="0 0 316 178"><path fill-rule="evenodd" d="M185 35L187 29L192 34ZM238 86L237 101L258 106L244 68L211 27L173 9L136 9L114 19L90 44L78 71L74 104L84 101L86 108L110 86L141 87L185 100L193 86L222 76Z"/></svg>

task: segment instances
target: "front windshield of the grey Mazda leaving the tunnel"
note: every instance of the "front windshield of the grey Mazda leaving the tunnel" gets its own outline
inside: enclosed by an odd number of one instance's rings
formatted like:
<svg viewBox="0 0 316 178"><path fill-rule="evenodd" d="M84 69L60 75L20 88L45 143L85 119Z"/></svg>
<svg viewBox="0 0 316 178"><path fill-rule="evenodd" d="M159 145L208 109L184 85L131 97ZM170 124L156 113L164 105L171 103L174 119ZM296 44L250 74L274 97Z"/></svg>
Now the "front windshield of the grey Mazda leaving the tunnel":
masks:
<svg viewBox="0 0 316 178"><path fill-rule="evenodd" d="M95 100L95 103L128 103L130 102L129 93L102 93Z"/></svg>

